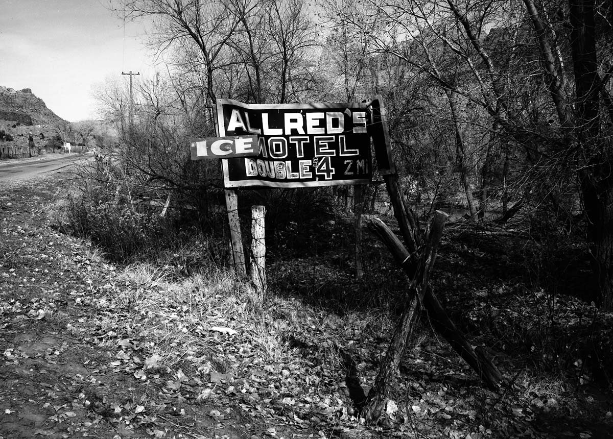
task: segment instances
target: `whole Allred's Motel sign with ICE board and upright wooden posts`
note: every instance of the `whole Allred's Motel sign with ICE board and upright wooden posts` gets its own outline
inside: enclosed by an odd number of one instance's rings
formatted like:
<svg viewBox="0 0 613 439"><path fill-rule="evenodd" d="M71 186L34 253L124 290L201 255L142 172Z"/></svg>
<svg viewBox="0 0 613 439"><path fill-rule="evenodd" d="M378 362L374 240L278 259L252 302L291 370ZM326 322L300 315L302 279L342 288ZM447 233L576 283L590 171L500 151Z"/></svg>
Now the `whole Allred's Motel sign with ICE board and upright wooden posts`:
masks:
<svg viewBox="0 0 613 439"><path fill-rule="evenodd" d="M367 104L251 104L218 99L213 109L217 137L191 140L192 160L221 159L230 228L232 263L246 276L245 252L235 188L322 187L360 185L371 179ZM358 201L358 209L361 201ZM256 289L266 288L264 208L255 206L251 276ZM361 229L361 214L356 227ZM359 232L357 233L359 242ZM357 273L362 274L359 248Z"/></svg>

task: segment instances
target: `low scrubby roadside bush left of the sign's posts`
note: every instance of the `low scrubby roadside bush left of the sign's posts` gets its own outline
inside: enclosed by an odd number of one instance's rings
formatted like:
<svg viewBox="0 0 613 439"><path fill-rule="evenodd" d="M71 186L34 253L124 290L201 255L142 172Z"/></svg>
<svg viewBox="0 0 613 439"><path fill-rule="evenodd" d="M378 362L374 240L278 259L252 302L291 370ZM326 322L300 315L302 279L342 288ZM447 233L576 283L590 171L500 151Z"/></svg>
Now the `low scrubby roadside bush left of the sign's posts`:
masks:
<svg viewBox="0 0 613 439"><path fill-rule="evenodd" d="M227 238L204 234L197 221L199 212L169 209L161 217L161 208L145 198L161 198L168 189L156 196L138 174L103 156L76 172L75 184L66 186L78 186L80 193L73 191L56 204L56 227L91 239L109 260L156 263L173 276L227 260ZM177 194L172 200L182 202Z"/></svg>

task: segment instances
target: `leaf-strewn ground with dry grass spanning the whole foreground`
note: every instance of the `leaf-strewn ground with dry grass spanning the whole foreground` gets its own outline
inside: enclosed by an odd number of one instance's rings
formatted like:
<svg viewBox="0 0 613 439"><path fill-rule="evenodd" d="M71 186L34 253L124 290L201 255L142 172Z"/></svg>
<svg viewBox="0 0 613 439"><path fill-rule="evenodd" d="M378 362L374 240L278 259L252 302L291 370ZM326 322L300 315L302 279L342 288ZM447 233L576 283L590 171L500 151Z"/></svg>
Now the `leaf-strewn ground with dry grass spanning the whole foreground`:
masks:
<svg viewBox="0 0 613 439"><path fill-rule="evenodd" d="M389 313L310 306L291 289L312 279L292 287L292 269L284 294L262 302L221 269L176 279L150 265L112 266L53 227L62 186L44 179L0 192L1 439L612 437L607 389L537 376L501 346L509 386L487 391L427 325L413 336L388 417L364 427L347 372L368 391ZM512 313L538 310L497 302L505 291L474 296L466 320L498 312L492 333L511 331Z"/></svg>

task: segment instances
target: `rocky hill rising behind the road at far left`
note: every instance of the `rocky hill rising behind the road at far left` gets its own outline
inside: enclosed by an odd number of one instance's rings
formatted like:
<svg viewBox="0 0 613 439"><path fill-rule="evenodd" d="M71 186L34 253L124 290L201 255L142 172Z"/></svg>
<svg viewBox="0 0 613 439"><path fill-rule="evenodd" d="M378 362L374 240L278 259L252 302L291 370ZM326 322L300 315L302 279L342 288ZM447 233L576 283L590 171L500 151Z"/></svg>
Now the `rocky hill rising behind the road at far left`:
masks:
<svg viewBox="0 0 613 439"><path fill-rule="evenodd" d="M45 125L63 122L57 114L47 108L45 102L25 88L15 91L0 86L0 119L20 122L22 125Z"/></svg>

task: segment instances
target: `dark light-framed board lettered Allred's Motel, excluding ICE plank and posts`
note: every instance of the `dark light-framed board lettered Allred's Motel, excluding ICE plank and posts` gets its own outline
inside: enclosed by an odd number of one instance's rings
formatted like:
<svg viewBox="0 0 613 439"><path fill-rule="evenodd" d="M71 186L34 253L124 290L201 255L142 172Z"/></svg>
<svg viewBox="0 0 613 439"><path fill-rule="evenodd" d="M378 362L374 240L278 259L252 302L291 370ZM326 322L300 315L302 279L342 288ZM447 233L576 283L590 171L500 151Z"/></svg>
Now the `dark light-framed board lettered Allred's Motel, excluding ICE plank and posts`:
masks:
<svg viewBox="0 0 613 439"><path fill-rule="evenodd" d="M370 113L362 103L217 100L220 137L256 135L259 155L221 160L224 186L315 187L371 178Z"/></svg>

